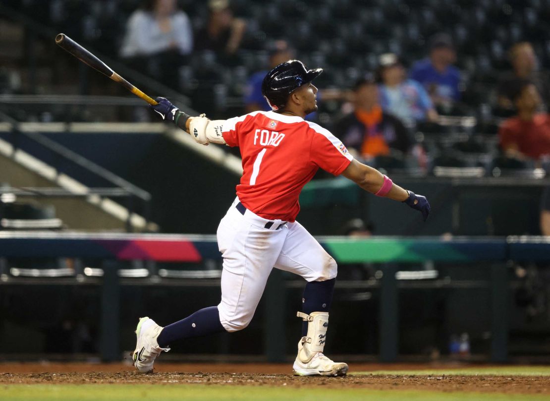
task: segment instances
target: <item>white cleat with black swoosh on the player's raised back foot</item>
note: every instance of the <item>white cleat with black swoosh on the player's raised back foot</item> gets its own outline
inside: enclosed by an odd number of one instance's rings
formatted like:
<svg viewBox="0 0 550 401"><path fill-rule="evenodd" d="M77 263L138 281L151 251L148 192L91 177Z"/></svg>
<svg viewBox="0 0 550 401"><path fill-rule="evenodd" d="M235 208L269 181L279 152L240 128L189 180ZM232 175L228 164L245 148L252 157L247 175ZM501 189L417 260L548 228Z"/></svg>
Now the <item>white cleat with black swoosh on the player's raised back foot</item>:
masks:
<svg viewBox="0 0 550 401"><path fill-rule="evenodd" d="M149 317L141 317L136 327L136 349L134 350L134 366L141 373L148 373L153 370L153 363L162 351L168 352L170 348L158 346L157 337L162 327L157 325Z"/></svg>

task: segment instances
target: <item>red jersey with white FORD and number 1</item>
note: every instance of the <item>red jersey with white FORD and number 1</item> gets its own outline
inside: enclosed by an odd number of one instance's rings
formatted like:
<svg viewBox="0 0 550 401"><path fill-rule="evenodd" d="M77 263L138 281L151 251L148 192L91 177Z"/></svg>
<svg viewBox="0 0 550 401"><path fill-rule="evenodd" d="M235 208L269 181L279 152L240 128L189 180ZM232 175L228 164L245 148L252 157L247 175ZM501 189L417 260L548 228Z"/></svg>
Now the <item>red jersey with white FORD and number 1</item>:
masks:
<svg viewBox="0 0 550 401"><path fill-rule="evenodd" d="M353 157L328 130L301 117L257 111L227 120L223 139L239 146L241 203L256 215L293 222L298 198L318 168L341 174Z"/></svg>

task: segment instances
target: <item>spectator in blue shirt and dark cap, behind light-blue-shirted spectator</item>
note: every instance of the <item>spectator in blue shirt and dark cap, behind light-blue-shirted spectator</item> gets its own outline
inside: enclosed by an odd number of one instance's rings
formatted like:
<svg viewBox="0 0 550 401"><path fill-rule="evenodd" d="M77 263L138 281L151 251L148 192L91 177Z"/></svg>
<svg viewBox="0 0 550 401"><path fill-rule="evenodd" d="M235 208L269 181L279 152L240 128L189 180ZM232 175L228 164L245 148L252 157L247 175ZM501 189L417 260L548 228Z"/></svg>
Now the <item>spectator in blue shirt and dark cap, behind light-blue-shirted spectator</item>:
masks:
<svg viewBox="0 0 550 401"><path fill-rule="evenodd" d="M431 41L430 57L412 65L409 76L424 86L435 105L448 106L460 100L460 71L452 65L455 61L451 37L438 34Z"/></svg>

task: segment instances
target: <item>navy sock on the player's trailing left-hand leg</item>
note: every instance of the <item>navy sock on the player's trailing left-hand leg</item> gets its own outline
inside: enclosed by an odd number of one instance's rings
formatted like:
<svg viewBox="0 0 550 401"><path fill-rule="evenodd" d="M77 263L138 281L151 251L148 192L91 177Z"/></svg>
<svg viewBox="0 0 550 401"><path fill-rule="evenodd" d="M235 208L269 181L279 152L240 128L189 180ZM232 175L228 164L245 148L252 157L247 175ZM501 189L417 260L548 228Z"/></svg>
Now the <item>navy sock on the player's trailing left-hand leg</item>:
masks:
<svg viewBox="0 0 550 401"><path fill-rule="evenodd" d="M226 331L222 323L219 322L219 313L217 306L205 307L196 311L179 322L172 323L164 327L157 337L158 346L168 347L175 340L191 337L206 336Z"/></svg>

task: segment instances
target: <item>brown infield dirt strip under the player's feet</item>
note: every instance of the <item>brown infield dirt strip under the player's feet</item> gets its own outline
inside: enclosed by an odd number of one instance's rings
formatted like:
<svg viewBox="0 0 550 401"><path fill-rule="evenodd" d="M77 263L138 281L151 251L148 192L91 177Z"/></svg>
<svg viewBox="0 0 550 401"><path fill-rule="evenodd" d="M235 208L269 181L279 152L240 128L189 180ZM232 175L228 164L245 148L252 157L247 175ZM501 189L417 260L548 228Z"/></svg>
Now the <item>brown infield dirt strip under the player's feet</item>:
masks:
<svg viewBox="0 0 550 401"><path fill-rule="evenodd" d="M430 366L433 369L434 366ZM448 368L448 366L447 366ZM350 365L350 371L388 370L388 365ZM390 369L426 369L426 365L391 365ZM289 386L550 394L548 376L427 376L348 375L296 377L288 365L158 364L155 373L142 374L122 364L0 364L0 384L202 384L207 386Z"/></svg>

